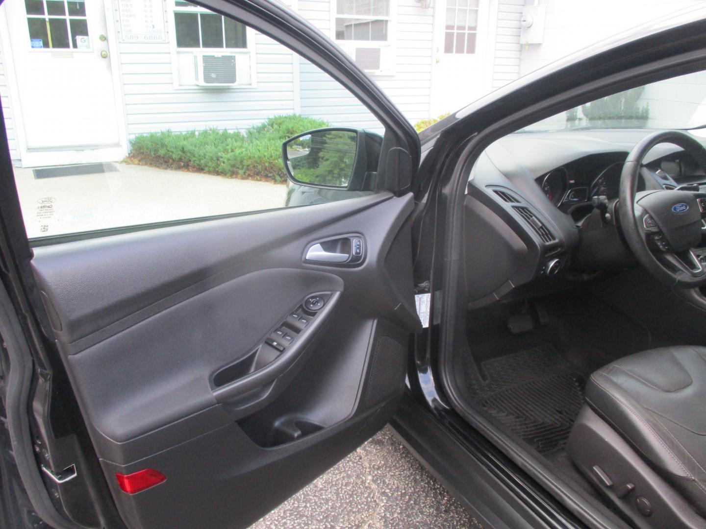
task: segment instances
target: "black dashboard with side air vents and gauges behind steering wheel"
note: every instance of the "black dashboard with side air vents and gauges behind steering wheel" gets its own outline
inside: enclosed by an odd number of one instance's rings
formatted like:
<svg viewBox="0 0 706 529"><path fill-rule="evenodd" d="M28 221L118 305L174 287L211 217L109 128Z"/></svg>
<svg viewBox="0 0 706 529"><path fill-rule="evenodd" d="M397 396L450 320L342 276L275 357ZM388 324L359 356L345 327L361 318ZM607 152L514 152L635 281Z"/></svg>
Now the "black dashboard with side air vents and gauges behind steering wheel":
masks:
<svg viewBox="0 0 706 529"><path fill-rule="evenodd" d="M465 202L469 308L562 270L590 276L630 266L616 214L621 173L652 132L515 133L487 147ZM680 186L706 190L705 172L681 147L657 145L644 159L638 190ZM593 197L602 197L599 207Z"/></svg>

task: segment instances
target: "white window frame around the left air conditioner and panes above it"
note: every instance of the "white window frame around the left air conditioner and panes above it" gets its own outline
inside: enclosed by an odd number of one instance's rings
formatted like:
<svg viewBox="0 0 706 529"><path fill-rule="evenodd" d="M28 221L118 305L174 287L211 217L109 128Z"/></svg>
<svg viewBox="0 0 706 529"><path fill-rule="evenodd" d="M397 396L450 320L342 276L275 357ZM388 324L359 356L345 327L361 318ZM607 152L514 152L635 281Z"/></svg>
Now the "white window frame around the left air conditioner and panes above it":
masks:
<svg viewBox="0 0 706 529"><path fill-rule="evenodd" d="M174 13L213 13L210 9L187 6L177 7L174 0L167 0L167 27L169 32L169 56L172 62L172 85L174 90L252 90L258 87L257 63L256 63L256 32L249 25L245 25L245 35L247 41L246 48L177 48L177 25L174 20ZM218 13L215 13L218 14ZM181 85L179 83L179 54L248 54L250 56L250 83L247 85L213 87L203 85Z"/></svg>

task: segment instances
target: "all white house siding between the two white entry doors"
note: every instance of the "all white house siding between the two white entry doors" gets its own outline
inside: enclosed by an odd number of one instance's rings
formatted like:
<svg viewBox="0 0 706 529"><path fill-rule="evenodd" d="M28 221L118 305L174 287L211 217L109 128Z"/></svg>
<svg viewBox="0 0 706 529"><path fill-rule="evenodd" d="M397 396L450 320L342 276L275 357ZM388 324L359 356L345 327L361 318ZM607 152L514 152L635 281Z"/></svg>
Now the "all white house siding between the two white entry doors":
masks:
<svg viewBox="0 0 706 529"><path fill-rule="evenodd" d="M433 10L415 0L399 2L395 75L375 80L416 121L429 116ZM332 35L330 9L330 0L297 3L297 11L326 35ZM115 24L119 30L117 14ZM169 31L167 38L172 38ZM120 42L119 66L130 139L165 129L245 129L268 116L293 112L338 126L380 129L376 118L333 78L261 34L256 34L256 88L174 87L168 43Z"/></svg>

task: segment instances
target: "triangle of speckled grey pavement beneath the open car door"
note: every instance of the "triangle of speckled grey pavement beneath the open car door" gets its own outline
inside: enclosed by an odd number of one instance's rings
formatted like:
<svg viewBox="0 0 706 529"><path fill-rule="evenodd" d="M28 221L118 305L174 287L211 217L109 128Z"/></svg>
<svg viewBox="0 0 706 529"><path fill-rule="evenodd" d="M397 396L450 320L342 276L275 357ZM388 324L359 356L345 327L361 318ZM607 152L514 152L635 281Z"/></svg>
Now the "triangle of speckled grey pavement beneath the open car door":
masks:
<svg viewBox="0 0 706 529"><path fill-rule="evenodd" d="M251 529L481 528L390 427Z"/></svg>

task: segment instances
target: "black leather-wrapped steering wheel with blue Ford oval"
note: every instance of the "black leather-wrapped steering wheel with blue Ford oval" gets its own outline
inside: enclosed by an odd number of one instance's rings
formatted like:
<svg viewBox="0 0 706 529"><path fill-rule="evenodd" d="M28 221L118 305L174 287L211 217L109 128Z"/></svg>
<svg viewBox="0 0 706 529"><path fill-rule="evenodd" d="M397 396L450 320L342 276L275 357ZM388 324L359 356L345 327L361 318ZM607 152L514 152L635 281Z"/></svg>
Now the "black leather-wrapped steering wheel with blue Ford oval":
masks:
<svg viewBox="0 0 706 529"><path fill-rule="evenodd" d="M706 284L706 269L694 249L706 218L706 193L687 190L637 192L642 160L659 143L673 143L706 171L706 150L677 130L648 135L628 154L621 174L618 218L635 258L662 283L678 288Z"/></svg>

